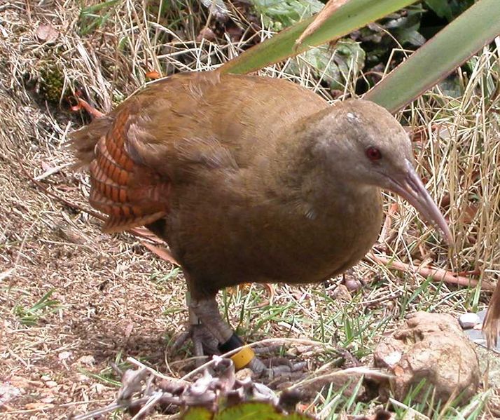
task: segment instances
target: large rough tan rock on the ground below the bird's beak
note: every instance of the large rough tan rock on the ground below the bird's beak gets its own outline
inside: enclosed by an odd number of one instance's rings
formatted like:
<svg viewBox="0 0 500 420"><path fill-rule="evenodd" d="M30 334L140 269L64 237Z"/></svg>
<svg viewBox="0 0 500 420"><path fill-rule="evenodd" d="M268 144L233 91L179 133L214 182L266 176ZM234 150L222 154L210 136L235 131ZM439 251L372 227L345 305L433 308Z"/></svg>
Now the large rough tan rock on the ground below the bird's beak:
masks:
<svg viewBox="0 0 500 420"><path fill-rule="evenodd" d="M381 384L382 398L387 398L391 388L395 398L403 400L410 387L422 379L426 379L426 386L434 386L436 402L460 393L461 401L467 402L478 389L480 371L475 348L457 320L447 314L417 312L410 316L403 327L375 348L374 365L394 374L390 387Z"/></svg>

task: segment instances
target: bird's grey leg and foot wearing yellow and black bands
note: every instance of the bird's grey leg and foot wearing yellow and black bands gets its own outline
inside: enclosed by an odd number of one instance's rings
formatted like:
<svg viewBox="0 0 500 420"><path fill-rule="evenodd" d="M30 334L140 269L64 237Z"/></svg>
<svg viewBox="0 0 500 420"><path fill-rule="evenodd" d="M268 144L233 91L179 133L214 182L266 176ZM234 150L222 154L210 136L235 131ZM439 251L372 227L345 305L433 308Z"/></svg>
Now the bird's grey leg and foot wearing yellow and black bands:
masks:
<svg viewBox="0 0 500 420"><path fill-rule="evenodd" d="M195 300L191 299L188 306L197 320L215 337L218 341L218 351L227 353L244 346L240 339L230 326L225 323L218 311L218 305L215 297ZM266 367L261 359L257 358L250 347L243 347L237 353L230 356L237 370L249 367L258 376L264 375L270 378L277 376L293 376L294 372L302 370L304 363L293 365L285 363L272 367Z"/></svg>

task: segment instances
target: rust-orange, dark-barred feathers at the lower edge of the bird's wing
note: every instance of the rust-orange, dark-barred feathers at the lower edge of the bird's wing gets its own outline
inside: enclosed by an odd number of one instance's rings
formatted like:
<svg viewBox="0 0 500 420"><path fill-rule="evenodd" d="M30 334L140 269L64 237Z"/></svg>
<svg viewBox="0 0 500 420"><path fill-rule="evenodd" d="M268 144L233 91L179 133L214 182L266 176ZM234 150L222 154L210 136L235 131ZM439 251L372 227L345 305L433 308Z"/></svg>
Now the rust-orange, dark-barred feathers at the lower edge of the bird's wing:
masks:
<svg viewBox="0 0 500 420"><path fill-rule="evenodd" d="M121 109L98 137L90 162L90 204L109 215L103 227L118 232L154 222L168 212L170 181L127 153L130 111Z"/></svg>

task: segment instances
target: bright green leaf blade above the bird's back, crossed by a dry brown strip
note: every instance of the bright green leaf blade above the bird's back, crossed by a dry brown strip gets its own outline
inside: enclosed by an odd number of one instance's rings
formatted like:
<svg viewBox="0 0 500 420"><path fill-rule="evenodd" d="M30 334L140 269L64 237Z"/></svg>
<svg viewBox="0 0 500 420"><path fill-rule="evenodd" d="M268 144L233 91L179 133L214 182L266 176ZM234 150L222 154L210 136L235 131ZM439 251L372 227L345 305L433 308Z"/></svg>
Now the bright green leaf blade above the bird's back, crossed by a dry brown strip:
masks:
<svg viewBox="0 0 500 420"><path fill-rule="evenodd" d="M307 36L302 45L294 50L295 41L314 20L314 16L298 22L271 39L246 50L239 57L225 63L219 71L222 73L245 74L254 72L267 65L285 60L292 55L302 53L312 46L327 43L331 39L350 34L360 27L368 25L389 13L415 3L416 0L351 0L340 7L328 18L317 31Z"/></svg>

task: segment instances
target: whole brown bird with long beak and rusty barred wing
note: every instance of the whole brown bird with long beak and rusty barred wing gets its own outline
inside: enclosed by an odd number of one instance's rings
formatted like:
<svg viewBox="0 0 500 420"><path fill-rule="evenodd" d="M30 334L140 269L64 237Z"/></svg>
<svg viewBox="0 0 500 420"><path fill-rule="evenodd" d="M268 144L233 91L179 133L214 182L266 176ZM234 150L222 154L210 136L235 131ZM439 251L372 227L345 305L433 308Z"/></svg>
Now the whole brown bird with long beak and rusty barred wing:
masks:
<svg viewBox="0 0 500 420"><path fill-rule="evenodd" d="M240 283L319 283L377 239L380 189L451 239L412 165L405 130L377 104L333 106L289 81L217 72L152 83L74 133L104 231L145 225L181 264L190 318L225 352L242 345L216 293ZM200 353L201 346L195 346ZM268 370L249 348L237 367Z"/></svg>

